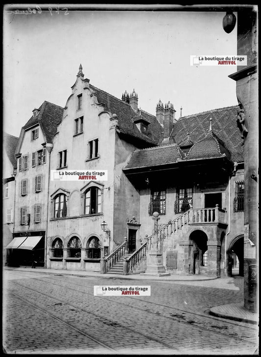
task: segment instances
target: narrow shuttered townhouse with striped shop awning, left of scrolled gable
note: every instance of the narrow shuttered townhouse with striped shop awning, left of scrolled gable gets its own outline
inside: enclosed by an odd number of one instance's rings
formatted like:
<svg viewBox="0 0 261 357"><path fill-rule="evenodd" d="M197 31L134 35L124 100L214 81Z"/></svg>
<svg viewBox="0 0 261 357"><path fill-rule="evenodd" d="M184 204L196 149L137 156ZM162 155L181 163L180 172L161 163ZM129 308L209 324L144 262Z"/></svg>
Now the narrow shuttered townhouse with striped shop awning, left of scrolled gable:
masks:
<svg viewBox="0 0 261 357"><path fill-rule="evenodd" d="M7 246L11 264L34 259L44 265L48 220L49 153L63 108L45 101L22 127L17 159L13 240Z"/></svg>

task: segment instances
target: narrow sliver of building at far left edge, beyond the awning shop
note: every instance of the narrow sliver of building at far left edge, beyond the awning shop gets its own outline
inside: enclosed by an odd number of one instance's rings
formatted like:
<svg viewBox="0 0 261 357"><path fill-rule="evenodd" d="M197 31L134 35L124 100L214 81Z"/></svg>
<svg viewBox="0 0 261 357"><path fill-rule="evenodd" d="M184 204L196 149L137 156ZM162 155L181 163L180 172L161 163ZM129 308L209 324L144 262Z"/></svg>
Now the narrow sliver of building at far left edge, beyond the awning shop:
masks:
<svg viewBox="0 0 261 357"><path fill-rule="evenodd" d="M3 133L3 247L6 247L12 240L14 230L14 212L15 212L15 177L17 162L15 159L15 150L19 138ZM8 261L8 251L3 249L3 263Z"/></svg>

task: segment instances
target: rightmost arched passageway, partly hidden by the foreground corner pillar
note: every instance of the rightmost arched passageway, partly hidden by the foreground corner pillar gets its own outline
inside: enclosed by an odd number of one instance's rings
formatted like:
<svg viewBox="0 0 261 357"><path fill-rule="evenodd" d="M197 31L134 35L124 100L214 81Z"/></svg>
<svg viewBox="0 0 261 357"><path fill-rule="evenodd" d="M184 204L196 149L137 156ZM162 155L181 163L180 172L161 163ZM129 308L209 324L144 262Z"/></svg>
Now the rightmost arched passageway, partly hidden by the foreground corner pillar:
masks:
<svg viewBox="0 0 261 357"><path fill-rule="evenodd" d="M228 275L244 276L244 236L234 239L229 247Z"/></svg>

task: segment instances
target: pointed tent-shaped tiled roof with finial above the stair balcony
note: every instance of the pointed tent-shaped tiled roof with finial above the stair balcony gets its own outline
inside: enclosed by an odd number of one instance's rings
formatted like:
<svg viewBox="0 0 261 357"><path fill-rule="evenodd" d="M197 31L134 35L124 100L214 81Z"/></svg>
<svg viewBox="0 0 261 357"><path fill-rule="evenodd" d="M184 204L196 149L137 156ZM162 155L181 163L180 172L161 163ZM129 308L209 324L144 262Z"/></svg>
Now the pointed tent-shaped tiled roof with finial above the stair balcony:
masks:
<svg viewBox="0 0 261 357"><path fill-rule="evenodd" d="M225 144L209 130L204 139L195 143L186 156L186 159L199 159L208 157L218 157L225 154L228 159L231 158L230 151L226 148Z"/></svg>

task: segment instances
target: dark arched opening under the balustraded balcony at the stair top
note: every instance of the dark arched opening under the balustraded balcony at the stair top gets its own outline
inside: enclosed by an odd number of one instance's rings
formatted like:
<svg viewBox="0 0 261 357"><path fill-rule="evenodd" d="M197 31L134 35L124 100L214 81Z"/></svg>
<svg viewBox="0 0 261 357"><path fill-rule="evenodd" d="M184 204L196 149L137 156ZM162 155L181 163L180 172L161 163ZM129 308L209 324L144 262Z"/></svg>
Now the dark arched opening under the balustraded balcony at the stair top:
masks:
<svg viewBox="0 0 261 357"><path fill-rule="evenodd" d="M190 234L190 241L193 242L190 253L190 274L207 273L208 266L208 236L200 230Z"/></svg>

